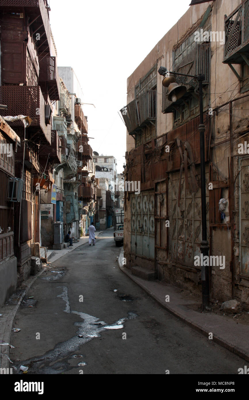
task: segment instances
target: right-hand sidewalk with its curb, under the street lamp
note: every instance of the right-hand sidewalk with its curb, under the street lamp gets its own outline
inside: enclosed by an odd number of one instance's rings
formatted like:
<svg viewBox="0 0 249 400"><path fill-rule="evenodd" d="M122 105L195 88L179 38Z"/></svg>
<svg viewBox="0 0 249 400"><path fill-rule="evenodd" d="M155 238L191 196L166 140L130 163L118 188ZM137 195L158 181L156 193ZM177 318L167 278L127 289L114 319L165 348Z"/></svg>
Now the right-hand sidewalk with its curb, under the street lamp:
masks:
<svg viewBox="0 0 249 400"><path fill-rule="evenodd" d="M192 328L199 330L205 336L210 336L210 333L212 333L215 342L249 361L249 326L236 320L226 320L225 316L216 315L212 312L202 313L191 310L191 305L196 304L196 300L184 298L181 289L173 285L160 281L147 281L133 275L131 270L122 266L121 259L123 256L124 248L122 247L118 258L120 270L165 307L167 311ZM165 301L167 295L169 295L169 302Z"/></svg>

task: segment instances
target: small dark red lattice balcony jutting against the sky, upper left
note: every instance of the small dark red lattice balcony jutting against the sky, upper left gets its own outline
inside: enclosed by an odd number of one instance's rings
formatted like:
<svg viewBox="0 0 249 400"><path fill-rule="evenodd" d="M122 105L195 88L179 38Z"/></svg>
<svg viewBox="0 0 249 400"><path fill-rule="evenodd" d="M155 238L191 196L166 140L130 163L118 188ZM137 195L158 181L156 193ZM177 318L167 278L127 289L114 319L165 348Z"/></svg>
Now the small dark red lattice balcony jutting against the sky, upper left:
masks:
<svg viewBox="0 0 249 400"><path fill-rule="evenodd" d="M50 100L60 100L60 78L56 65L56 57L46 56L39 62L40 72L38 84L46 85Z"/></svg>

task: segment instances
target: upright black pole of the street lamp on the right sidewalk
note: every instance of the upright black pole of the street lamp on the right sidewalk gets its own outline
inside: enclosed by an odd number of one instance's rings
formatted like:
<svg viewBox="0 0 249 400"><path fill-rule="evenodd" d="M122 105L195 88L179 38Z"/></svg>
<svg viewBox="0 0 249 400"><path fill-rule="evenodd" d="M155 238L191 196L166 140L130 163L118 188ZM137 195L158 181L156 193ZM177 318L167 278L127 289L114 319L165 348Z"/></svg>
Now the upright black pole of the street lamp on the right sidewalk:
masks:
<svg viewBox="0 0 249 400"><path fill-rule="evenodd" d="M206 214L206 177L205 177L205 126L203 124L203 92L202 82L204 75L197 76L199 81L199 94L200 94L200 156L201 156L201 228L202 240L200 250L205 256L209 256L209 242L207 241L207 214ZM202 308L203 310L209 306L209 262L206 266L201 266L201 281L202 281Z"/></svg>

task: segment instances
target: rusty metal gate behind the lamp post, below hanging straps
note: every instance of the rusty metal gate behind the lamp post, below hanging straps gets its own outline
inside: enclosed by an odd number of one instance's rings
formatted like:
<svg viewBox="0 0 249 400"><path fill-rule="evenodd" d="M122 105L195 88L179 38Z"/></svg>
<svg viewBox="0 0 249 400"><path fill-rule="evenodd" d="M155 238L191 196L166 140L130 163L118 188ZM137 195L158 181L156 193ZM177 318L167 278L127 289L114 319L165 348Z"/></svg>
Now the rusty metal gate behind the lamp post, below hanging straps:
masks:
<svg viewBox="0 0 249 400"><path fill-rule="evenodd" d="M197 173L199 173L197 168ZM201 188L196 194L185 190L185 179L181 180L181 199L178 207L179 172L169 174L169 220L171 261L194 266L194 256L200 256L201 243ZM206 169L206 214L207 238L209 240L209 190ZM200 182L199 175L199 182Z"/></svg>

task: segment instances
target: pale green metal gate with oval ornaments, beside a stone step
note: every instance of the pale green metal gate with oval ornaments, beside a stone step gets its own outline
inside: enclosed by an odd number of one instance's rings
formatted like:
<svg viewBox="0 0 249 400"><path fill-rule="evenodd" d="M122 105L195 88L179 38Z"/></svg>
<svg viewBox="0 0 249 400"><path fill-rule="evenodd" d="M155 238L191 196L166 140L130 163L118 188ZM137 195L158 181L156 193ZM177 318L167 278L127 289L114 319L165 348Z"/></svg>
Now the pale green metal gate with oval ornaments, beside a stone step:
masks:
<svg viewBox="0 0 249 400"><path fill-rule="evenodd" d="M151 259L155 254L154 207L153 191L131 196L131 251Z"/></svg>

